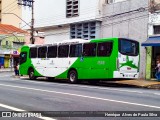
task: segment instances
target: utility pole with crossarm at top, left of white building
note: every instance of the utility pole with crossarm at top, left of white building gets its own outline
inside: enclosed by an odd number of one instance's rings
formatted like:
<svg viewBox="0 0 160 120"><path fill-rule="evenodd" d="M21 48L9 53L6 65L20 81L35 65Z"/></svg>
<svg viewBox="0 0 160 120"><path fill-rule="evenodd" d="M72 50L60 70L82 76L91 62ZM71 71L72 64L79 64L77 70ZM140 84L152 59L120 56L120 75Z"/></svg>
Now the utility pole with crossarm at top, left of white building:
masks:
<svg viewBox="0 0 160 120"><path fill-rule="evenodd" d="M31 38L30 41L32 44L35 42L34 38L34 0L18 0L18 5L28 6L32 9L32 18L31 18Z"/></svg>

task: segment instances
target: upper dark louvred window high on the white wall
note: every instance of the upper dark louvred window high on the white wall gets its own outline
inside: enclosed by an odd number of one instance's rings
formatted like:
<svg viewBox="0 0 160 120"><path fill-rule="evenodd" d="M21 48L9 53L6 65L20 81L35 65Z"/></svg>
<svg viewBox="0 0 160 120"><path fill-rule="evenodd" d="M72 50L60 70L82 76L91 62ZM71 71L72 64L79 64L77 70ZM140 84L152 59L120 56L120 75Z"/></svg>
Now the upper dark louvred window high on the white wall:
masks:
<svg viewBox="0 0 160 120"><path fill-rule="evenodd" d="M78 0L67 0L66 3L66 17L78 16Z"/></svg>

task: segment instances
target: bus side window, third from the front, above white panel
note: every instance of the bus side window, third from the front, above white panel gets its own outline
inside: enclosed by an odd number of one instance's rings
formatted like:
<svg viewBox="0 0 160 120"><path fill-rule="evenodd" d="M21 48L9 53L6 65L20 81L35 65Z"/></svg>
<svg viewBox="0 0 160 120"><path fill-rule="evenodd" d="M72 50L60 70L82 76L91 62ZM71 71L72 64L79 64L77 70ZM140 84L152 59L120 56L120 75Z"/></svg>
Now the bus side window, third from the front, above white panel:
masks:
<svg viewBox="0 0 160 120"><path fill-rule="evenodd" d="M56 58L57 57L57 46L49 46L47 52L47 58Z"/></svg>

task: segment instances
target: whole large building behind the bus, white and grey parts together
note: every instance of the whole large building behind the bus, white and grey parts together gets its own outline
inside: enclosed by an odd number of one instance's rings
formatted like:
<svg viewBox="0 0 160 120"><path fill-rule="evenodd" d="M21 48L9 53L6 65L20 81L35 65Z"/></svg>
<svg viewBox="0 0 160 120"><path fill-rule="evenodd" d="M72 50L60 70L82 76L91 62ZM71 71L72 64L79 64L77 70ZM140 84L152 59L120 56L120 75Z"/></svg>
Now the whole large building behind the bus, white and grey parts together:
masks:
<svg viewBox="0 0 160 120"><path fill-rule="evenodd" d="M148 38L150 1L39 0L35 1L35 28L45 33L47 44L104 37L125 37L143 43ZM140 47L140 78L146 78L146 53L146 48Z"/></svg>

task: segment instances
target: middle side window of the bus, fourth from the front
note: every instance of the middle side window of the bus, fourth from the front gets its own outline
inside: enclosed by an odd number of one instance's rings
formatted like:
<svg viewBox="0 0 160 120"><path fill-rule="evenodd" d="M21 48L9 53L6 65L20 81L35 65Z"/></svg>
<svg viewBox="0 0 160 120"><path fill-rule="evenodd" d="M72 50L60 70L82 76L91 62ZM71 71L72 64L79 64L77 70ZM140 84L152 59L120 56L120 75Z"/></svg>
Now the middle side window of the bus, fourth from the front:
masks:
<svg viewBox="0 0 160 120"><path fill-rule="evenodd" d="M69 45L60 45L58 47L58 57L68 57Z"/></svg>

